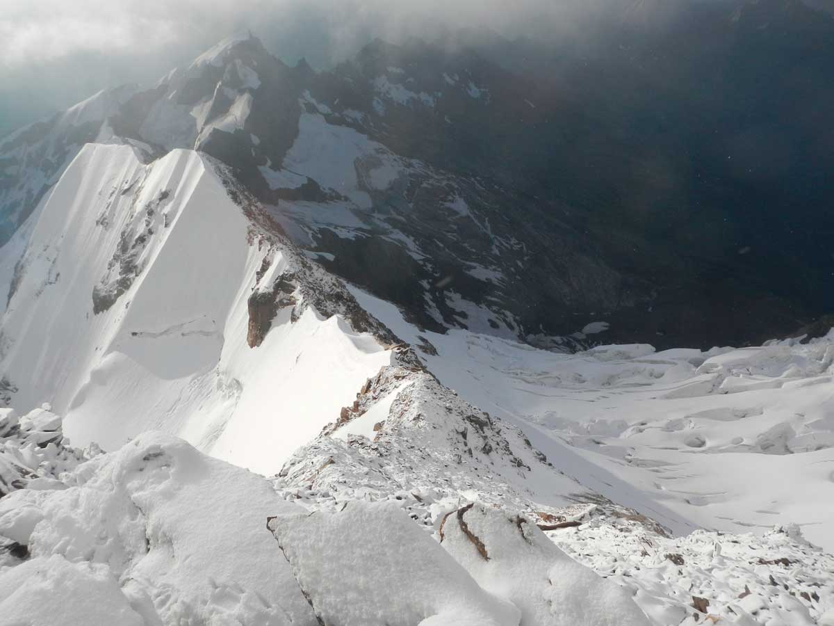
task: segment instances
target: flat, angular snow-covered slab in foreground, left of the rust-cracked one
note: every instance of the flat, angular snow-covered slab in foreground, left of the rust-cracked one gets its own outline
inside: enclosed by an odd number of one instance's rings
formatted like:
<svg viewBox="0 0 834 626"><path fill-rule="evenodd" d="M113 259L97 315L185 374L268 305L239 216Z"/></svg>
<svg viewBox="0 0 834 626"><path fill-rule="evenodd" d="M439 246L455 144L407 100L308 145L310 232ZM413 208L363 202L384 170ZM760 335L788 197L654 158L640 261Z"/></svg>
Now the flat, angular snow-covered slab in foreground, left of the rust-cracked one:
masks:
<svg viewBox="0 0 834 626"><path fill-rule="evenodd" d="M480 588L398 507L349 502L340 512L272 517L269 528L319 623L519 623L515 606Z"/></svg>

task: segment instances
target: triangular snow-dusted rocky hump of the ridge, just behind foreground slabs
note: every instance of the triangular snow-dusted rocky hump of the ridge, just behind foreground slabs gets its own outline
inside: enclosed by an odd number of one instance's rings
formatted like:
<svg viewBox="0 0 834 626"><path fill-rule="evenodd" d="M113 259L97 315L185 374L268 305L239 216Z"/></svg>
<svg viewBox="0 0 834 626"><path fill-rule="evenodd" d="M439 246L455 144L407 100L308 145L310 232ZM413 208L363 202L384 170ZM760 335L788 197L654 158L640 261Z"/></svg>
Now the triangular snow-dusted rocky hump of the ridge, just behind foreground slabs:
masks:
<svg viewBox="0 0 834 626"><path fill-rule="evenodd" d="M462 400L430 372L400 364L366 381L334 423L284 464L276 487L347 495L361 485L374 497L408 502L414 519L425 522L429 502L471 492L538 519L555 512L552 498L535 503L529 491L540 480L580 491L518 428Z"/></svg>

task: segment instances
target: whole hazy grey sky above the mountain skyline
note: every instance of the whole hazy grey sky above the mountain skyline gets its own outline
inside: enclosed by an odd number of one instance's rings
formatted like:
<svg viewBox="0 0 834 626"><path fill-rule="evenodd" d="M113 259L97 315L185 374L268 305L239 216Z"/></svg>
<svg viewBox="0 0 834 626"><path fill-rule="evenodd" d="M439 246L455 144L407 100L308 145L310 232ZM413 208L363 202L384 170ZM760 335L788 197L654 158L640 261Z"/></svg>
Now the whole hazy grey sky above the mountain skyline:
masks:
<svg viewBox="0 0 834 626"><path fill-rule="evenodd" d="M101 88L152 83L239 28L284 61L320 68L374 37L464 26L557 37L591 5L656 12L694 1L0 0L0 136Z"/></svg>

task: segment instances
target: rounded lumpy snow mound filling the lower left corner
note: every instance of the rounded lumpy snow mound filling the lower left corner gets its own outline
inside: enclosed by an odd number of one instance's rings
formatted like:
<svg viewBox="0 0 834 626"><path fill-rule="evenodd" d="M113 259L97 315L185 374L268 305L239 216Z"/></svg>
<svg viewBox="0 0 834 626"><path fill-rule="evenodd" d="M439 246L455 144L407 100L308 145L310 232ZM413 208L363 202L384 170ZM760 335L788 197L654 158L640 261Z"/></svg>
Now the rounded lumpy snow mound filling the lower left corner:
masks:
<svg viewBox="0 0 834 626"><path fill-rule="evenodd" d="M268 513L295 507L262 477L147 433L84 463L62 487L0 500L0 542L23 547L0 550L0 608L15 607L0 610L3 618L315 623L264 530ZM29 560L3 568L21 558ZM78 593L55 593L73 585ZM108 617L97 618L99 610ZM73 622L75 614L86 622Z"/></svg>

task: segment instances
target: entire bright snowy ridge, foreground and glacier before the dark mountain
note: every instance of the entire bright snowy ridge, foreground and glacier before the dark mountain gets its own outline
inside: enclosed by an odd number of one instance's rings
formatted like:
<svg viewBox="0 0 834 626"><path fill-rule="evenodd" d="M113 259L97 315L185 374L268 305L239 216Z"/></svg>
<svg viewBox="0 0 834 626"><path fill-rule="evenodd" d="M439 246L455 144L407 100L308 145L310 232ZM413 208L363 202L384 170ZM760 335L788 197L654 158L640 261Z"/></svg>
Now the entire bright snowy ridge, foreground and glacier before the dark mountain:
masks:
<svg viewBox="0 0 834 626"><path fill-rule="evenodd" d="M224 164L126 145L85 146L0 271L4 396L33 411L0 424L9 623L831 623L831 557L762 533L831 549L834 336L426 331Z"/></svg>

